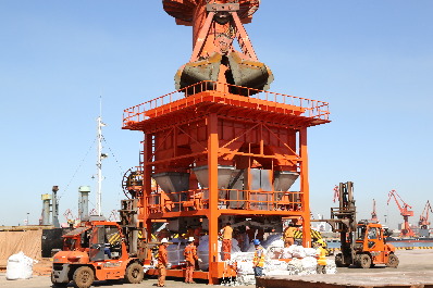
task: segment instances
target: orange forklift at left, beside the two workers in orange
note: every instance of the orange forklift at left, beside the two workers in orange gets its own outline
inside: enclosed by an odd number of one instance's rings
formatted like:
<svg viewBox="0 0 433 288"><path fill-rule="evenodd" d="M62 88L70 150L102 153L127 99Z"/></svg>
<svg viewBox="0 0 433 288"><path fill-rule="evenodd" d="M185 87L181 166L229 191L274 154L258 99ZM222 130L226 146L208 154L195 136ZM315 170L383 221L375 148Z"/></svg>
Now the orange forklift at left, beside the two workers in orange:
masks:
<svg viewBox="0 0 433 288"><path fill-rule="evenodd" d="M128 206L135 203L124 200L122 204ZM140 283L144 278L144 258L138 251L136 216L132 211L121 210L123 225L108 222L102 216L89 216L79 227L63 235L63 250L53 256L53 287L66 287L70 281L78 288L88 288L94 280ZM129 217L122 217L122 212L129 214Z"/></svg>

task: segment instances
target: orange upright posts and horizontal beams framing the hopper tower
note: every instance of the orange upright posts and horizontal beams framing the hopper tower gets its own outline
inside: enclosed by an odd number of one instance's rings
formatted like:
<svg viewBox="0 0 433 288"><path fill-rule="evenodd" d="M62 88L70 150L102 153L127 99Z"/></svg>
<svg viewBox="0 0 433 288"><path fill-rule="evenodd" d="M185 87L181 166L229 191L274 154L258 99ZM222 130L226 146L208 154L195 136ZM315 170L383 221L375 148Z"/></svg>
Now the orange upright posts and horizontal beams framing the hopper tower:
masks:
<svg viewBox="0 0 433 288"><path fill-rule="evenodd" d="M221 91L207 91L207 93L218 93L220 97L223 97L224 99L230 99L232 95L221 95ZM237 96L235 96L237 97ZM240 99L240 101L237 103L242 105L243 100L248 100L248 99ZM256 101L265 101L263 103L269 104L268 100L260 100L256 99ZM300 174L300 193L301 193L301 211L237 211L237 210L221 210L218 208L218 162L219 162L219 150L220 150L220 145L219 145L219 126L218 126L218 121L220 117L224 117L224 113L221 115L221 107L226 107L228 105L231 109L235 109L237 105L233 103L215 103L211 101L205 101L207 104L207 113L199 113L196 116L200 118L201 121L205 121L206 126L207 126L207 150L203 151L203 153L207 154L208 159L208 173L209 173L209 209L203 209L201 211L180 211L180 212L159 212L159 213L151 213L150 210L146 209L148 203L148 200L150 198L150 192L151 192L151 173L152 173L152 166L154 165L154 162L151 161L152 155L154 154L154 150L158 149L158 147L152 146L152 137L154 133L154 126L146 126L146 122L154 122L158 121L158 118L164 118L164 116L169 116L172 118L171 124L164 123L166 127L174 127L178 123L173 121L173 113L182 113L183 110L190 110L191 107L184 107L180 109L175 109L175 111L171 110L168 113L164 113L165 111L162 109L162 113L157 113L158 115L153 115L152 117L149 117L147 120L144 120L141 122L135 122L133 126L129 126L132 129L141 129L145 133L145 141L144 141L144 160L145 162L143 163L144 166L144 192L143 197L140 198L140 221L141 224L144 225L145 228L147 228L148 233L148 239L150 239L150 225L151 221L156 218L170 218L170 217L178 217L178 216L206 216L209 220L209 273L208 274L201 274L197 273L197 277L205 277L209 279L209 284L216 284L218 278L223 276L223 273L221 271L221 263L216 262L218 259L218 218L224 214L224 215L281 215L281 216L298 216L302 218L302 226L304 229L310 226L310 211L309 211L309 180L308 180L308 145L307 145L307 127L312 126L312 125L318 125L313 122L309 122L308 117L300 116L300 115L294 115L292 111L287 111L286 113L289 114L289 118L296 120L297 117L301 118L307 118L306 121L301 122L304 126L296 128L297 134L298 134L298 151L299 151L299 159L298 162L300 163L299 165L299 174ZM171 103L166 103L165 105L169 105ZM212 107L219 108L215 110L212 110ZM259 109L260 105L257 105L256 109L258 109L258 113L262 113L261 110ZM158 109L158 108L156 108ZM256 110L253 107L249 108L242 108L242 109L248 109L248 110ZM267 112L267 113L274 113L274 114L282 114L281 111L277 112ZM283 113L284 114L284 113ZM251 114L253 117L255 114ZM257 114L256 114L257 115ZM279 115L282 116L282 115ZM245 116L244 116L245 117ZM248 117L248 116L247 116ZM311 120L311 118L310 118ZM253 118L250 118L250 121L255 121ZM322 123L327 123L330 122L329 120L324 120ZM129 122L131 123L131 122ZM320 123L320 124L322 124ZM127 128L128 125L126 125L125 128ZM138 128L139 127L139 128ZM150 161L149 161L150 160ZM163 159L159 161L172 161L173 158L169 159ZM304 246L309 247L311 245L311 238L309 234L305 235L304 238ZM177 275L178 273L173 272L173 274Z"/></svg>

